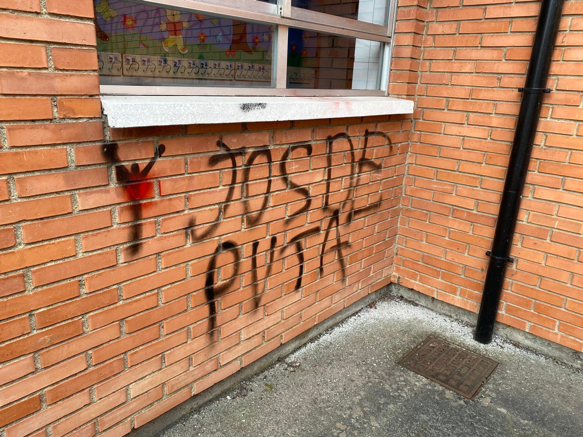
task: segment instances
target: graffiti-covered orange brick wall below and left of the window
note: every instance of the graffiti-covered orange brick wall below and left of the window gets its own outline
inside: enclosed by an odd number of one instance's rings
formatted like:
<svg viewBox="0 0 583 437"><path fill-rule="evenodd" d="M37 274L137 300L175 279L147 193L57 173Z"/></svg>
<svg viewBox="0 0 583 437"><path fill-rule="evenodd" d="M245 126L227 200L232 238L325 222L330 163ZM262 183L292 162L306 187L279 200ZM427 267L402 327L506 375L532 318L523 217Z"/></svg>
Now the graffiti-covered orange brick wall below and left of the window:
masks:
<svg viewBox="0 0 583 437"><path fill-rule="evenodd" d="M92 2L0 8L0 435L127 434L389 283L410 117L109 129Z"/></svg>

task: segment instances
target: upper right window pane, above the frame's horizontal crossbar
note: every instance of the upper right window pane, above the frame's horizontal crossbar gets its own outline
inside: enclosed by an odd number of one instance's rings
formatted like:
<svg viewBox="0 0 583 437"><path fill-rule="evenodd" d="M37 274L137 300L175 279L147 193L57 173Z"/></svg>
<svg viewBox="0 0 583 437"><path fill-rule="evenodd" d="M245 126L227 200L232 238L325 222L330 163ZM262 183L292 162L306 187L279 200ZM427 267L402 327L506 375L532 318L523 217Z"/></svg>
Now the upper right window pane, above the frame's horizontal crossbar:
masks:
<svg viewBox="0 0 583 437"><path fill-rule="evenodd" d="M291 0L291 6L387 25L388 0Z"/></svg>

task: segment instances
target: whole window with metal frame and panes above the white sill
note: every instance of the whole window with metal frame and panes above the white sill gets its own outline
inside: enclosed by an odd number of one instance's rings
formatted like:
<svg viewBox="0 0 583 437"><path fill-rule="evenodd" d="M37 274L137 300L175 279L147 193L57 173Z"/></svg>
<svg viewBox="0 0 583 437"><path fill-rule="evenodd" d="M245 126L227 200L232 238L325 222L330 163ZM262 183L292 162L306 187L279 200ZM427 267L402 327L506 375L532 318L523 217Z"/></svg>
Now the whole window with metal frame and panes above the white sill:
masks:
<svg viewBox="0 0 583 437"><path fill-rule="evenodd" d="M384 96L391 0L94 0L104 94Z"/></svg>

